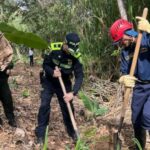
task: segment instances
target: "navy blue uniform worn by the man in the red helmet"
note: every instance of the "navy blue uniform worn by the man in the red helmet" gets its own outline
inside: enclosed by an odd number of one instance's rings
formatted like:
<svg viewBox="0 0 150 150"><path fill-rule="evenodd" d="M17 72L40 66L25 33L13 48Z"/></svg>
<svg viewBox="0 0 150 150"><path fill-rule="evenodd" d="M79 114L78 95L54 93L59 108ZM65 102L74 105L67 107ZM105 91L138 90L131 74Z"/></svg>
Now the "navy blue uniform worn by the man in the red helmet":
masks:
<svg viewBox="0 0 150 150"><path fill-rule="evenodd" d="M122 50L121 72L129 74L135 45ZM138 79L133 89L132 123L135 137L140 141L141 129L150 131L150 34L143 33L135 77ZM144 133L145 134L145 133ZM141 141L140 141L141 143ZM142 144L142 143L141 143Z"/></svg>

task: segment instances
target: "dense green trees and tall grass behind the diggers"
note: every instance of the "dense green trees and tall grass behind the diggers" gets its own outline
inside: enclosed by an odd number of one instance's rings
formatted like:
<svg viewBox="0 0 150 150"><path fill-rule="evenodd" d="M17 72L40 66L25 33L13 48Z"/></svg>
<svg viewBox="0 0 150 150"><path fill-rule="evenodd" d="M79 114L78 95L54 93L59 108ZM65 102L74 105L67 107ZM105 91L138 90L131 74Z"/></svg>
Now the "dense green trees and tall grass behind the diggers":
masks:
<svg viewBox="0 0 150 150"><path fill-rule="evenodd" d="M124 2L128 19L135 25L135 16L150 6L149 0ZM79 33L85 72L105 79L118 76L119 60L108 32L120 17L117 0L1 0L0 4L1 22L48 42L63 41L70 31Z"/></svg>

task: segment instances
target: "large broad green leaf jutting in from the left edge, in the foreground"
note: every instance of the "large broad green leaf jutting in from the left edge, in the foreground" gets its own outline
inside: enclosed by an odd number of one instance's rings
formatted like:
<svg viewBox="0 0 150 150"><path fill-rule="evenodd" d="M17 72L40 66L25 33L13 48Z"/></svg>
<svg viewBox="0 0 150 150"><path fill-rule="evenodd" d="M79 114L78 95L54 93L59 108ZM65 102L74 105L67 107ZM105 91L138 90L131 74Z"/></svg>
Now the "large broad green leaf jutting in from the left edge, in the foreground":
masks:
<svg viewBox="0 0 150 150"><path fill-rule="evenodd" d="M0 31L4 33L9 41L16 44L24 44L36 49L46 49L48 47L48 43L39 36L33 33L18 31L5 23L0 23Z"/></svg>

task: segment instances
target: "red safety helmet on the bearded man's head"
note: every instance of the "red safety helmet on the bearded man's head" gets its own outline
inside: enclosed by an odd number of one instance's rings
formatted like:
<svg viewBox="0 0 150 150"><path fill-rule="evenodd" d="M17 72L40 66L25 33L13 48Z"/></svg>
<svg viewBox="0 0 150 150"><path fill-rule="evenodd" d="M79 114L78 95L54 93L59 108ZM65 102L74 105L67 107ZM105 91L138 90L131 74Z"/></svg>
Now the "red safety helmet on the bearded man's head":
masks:
<svg viewBox="0 0 150 150"><path fill-rule="evenodd" d="M133 24L124 19L116 20L110 27L110 35L113 42L119 41L126 30L132 29Z"/></svg>

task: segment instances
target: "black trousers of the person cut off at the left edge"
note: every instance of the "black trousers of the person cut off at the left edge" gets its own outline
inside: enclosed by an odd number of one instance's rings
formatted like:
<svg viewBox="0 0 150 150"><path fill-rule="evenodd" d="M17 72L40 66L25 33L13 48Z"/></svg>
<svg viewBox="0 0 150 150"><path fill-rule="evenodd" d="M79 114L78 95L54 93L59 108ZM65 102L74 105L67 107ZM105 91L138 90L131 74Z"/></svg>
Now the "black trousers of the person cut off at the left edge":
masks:
<svg viewBox="0 0 150 150"><path fill-rule="evenodd" d="M0 71L0 100L10 125L12 125L12 122L14 122L14 108L11 91L8 85L9 75L7 74L7 70L12 68L13 64L10 63L4 71Z"/></svg>

